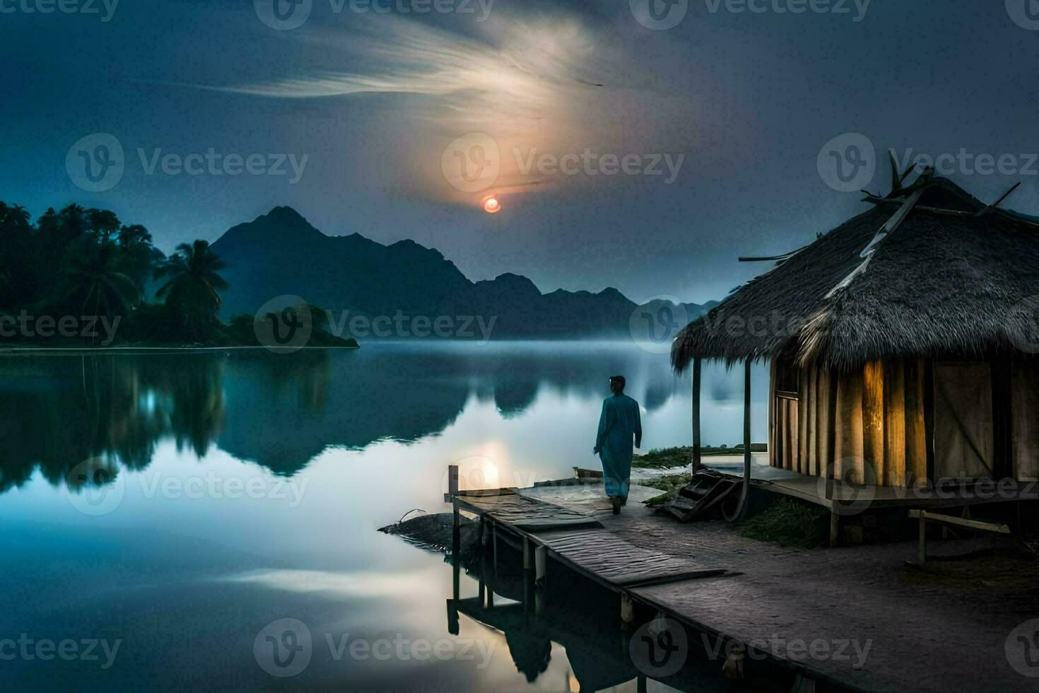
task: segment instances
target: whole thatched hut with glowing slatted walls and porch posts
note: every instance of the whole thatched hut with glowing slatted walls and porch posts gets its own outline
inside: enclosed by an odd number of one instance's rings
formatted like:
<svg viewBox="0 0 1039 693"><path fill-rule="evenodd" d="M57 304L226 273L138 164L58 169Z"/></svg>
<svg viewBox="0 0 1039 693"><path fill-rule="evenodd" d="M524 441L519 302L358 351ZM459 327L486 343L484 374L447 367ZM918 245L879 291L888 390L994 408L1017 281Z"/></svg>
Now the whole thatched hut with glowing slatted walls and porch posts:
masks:
<svg viewBox="0 0 1039 693"><path fill-rule="evenodd" d="M776 265L678 334L672 365L693 366L694 389L701 359L770 366L774 468L902 489L1034 480L1039 223L930 170L904 179L764 259Z"/></svg>

